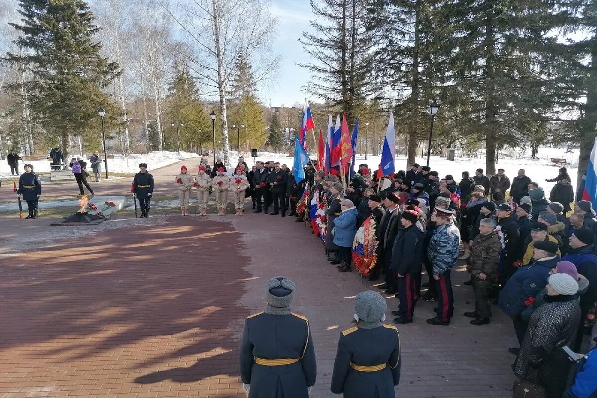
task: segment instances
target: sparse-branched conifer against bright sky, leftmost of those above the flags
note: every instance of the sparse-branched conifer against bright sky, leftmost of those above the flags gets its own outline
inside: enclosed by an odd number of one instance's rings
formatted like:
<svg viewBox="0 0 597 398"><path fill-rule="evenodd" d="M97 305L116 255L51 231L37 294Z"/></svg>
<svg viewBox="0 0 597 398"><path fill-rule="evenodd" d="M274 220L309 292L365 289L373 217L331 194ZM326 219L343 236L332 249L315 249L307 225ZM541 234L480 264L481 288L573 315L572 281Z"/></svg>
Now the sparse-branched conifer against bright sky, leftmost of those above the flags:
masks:
<svg viewBox="0 0 597 398"><path fill-rule="evenodd" d="M352 124L376 91L367 10L358 0L312 0L311 8L316 33L303 32L299 41L318 63L301 64L314 76L306 90L337 112L346 112Z"/></svg>

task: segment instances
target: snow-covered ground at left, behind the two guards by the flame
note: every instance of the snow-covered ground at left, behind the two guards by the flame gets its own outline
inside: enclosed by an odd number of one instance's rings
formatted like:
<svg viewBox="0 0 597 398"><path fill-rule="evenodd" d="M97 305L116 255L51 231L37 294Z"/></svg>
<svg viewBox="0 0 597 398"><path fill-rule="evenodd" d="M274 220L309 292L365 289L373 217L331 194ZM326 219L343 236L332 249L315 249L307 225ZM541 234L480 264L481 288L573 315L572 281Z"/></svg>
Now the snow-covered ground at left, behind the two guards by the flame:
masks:
<svg viewBox="0 0 597 398"><path fill-rule="evenodd" d="M73 155L77 156L77 155ZM138 172L139 171L139 163L147 163L149 169L156 169L159 167L167 166L172 163L176 163L181 159L187 158L198 158L199 155L196 153L189 153L189 152L168 152L168 151L161 151L161 152L149 152L146 154L135 154L129 155L126 158L123 155L114 155L114 159L108 159L108 169L110 172ZM87 161L86 156L82 156L82 158ZM103 158L103 155L102 155ZM70 159L66 159L67 163L70 162ZM43 160L43 161L20 161L19 162L19 171L24 172L23 165L25 163L31 163L33 165L33 169L36 172L44 172L50 171L50 161ZM91 171L91 166L88 165L87 169ZM103 168L106 171L105 168ZM0 177L8 177L11 175L10 166L8 166L7 161L2 161L0 163Z"/></svg>

